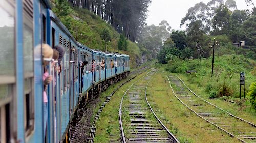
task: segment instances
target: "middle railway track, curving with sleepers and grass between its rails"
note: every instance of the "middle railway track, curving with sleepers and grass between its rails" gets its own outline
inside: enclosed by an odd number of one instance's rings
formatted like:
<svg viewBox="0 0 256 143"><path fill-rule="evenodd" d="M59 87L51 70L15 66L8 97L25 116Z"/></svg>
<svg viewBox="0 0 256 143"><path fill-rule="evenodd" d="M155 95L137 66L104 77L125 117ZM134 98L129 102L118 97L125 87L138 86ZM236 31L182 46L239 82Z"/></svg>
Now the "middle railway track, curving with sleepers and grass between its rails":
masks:
<svg viewBox="0 0 256 143"><path fill-rule="evenodd" d="M119 121L124 143L179 142L157 118L152 108L148 107L146 94L145 97L143 96L144 90L155 73L156 70L152 69L135 81L122 97Z"/></svg>

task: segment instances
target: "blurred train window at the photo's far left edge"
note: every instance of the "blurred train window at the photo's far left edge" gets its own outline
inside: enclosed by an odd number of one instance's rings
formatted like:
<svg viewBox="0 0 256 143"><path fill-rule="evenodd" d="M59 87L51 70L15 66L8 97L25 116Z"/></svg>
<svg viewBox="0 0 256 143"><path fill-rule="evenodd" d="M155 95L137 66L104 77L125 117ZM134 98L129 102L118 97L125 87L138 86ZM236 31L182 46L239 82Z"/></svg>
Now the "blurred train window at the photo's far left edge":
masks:
<svg viewBox="0 0 256 143"><path fill-rule="evenodd" d="M10 109L15 83L14 1L0 1L0 13L0 142L6 143L11 142L11 132L16 129L11 118L15 111Z"/></svg>

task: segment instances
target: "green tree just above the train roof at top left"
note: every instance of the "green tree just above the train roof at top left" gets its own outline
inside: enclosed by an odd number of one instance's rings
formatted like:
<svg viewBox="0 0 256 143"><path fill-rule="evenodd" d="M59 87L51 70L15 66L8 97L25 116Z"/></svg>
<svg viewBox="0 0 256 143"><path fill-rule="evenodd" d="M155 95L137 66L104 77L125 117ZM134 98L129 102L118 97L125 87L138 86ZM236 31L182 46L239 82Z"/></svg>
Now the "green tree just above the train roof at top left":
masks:
<svg viewBox="0 0 256 143"><path fill-rule="evenodd" d="M70 7L66 0L55 0L54 4L55 8L53 8L53 11L57 14L59 20L70 13Z"/></svg>

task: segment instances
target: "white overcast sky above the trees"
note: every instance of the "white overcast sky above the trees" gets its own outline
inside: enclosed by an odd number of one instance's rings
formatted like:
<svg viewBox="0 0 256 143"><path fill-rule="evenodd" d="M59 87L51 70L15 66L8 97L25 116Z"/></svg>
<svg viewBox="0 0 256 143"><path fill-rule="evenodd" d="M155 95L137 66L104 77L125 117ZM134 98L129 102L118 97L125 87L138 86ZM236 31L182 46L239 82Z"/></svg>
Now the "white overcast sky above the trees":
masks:
<svg viewBox="0 0 256 143"><path fill-rule="evenodd" d="M180 28L181 19L185 17L189 8L201 1L207 4L210 0L152 0L148 7L147 25L158 25L162 20L166 20L172 29L184 30L184 26ZM256 5L256 0L252 2ZM236 0L236 4L240 10L252 9L252 6L246 5L245 0Z"/></svg>

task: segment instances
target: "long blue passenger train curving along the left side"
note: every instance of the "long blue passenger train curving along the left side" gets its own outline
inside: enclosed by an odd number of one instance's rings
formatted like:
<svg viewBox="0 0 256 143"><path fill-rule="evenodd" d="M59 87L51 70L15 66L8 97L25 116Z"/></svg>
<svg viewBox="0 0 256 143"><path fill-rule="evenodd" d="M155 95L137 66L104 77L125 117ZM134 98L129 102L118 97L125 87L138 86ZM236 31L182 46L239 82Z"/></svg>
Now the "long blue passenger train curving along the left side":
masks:
<svg viewBox="0 0 256 143"><path fill-rule="evenodd" d="M1 0L0 15L0 142L44 143L43 43L65 48L56 87L48 85L46 142L69 142L71 123L80 108L129 75L129 56L92 50L77 42L46 0ZM95 71L88 72L92 59ZM105 67L100 68L103 59ZM82 73L81 89L79 63L84 60L89 64ZM117 61L117 67L111 61Z"/></svg>

